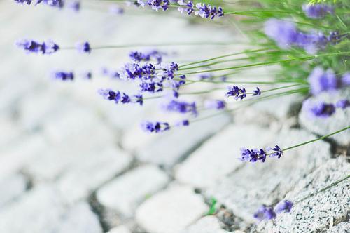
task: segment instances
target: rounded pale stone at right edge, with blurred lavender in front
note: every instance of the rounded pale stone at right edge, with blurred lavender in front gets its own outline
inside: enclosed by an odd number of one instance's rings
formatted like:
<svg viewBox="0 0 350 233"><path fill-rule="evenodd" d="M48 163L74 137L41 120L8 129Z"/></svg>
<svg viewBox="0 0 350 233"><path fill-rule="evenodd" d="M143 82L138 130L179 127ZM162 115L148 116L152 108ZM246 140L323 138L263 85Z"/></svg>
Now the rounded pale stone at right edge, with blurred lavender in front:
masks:
<svg viewBox="0 0 350 233"><path fill-rule="evenodd" d="M327 103L337 102L349 98L350 88L345 88L337 91L336 93L320 93L317 96L309 98L311 102L324 101ZM328 118L313 118L309 116L307 111L307 105L303 105L302 111L299 115L299 121L304 128L309 131L317 133L318 135L326 135L338 131L346 126L350 125L350 108L337 109L335 114ZM339 145L349 145L350 143L350 131L344 131L337 135L332 136L332 140L335 140Z"/></svg>

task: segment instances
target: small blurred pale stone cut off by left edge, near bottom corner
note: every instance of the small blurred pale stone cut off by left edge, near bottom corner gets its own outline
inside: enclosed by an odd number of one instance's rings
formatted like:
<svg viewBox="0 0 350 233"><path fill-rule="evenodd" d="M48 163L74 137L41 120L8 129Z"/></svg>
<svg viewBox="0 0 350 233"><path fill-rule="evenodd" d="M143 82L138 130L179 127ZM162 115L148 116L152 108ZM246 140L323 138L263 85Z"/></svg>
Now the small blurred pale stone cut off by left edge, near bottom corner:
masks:
<svg viewBox="0 0 350 233"><path fill-rule="evenodd" d="M10 175L0 180L0 208L13 201L27 189L27 180L23 175Z"/></svg>

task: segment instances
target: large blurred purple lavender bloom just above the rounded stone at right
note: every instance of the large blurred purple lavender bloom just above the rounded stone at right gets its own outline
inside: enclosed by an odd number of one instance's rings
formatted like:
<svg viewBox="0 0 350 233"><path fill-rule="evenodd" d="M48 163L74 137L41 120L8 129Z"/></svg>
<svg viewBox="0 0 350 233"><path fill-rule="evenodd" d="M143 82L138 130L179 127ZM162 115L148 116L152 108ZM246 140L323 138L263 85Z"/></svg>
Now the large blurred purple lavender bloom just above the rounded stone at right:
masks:
<svg viewBox="0 0 350 233"><path fill-rule="evenodd" d="M308 81L313 95L337 88L337 79L332 69L324 71L321 67L316 67L309 75Z"/></svg>

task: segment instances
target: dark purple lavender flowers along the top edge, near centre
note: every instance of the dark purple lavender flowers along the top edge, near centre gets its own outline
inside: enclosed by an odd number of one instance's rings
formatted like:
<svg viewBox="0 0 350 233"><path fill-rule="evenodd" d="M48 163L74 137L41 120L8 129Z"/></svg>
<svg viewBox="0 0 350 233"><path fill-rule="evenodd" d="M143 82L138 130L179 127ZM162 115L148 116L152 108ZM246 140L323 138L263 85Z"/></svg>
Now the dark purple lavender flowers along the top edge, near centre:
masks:
<svg viewBox="0 0 350 233"><path fill-rule="evenodd" d="M211 18L213 20L215 17L222 17L224 15L223 8L211 6L210 4L202 4L197 3L193 4L193 1L185 1L185 0L173 0L172 2L180 5L178 10L183 13L186 12L188 15L194 13L195 15L200 15L202 18ZM162 9L163 11L167 11L169 8L171 1L169 0L137 0L137 6L150 6L153 10L159 11Z"/></svg>

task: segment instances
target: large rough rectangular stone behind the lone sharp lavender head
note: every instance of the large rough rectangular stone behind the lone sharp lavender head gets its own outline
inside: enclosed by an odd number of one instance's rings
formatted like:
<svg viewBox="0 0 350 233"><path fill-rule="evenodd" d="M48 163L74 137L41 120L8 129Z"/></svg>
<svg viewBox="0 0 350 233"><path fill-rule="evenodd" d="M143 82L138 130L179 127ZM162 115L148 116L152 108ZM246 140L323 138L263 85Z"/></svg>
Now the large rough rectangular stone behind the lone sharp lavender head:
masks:
<svg viewBox="0 0 350 233"><path fill-rule="evenodd" d="M281 148L312 140L314 135L300 130L284 130L277 134L271 146ZM257 139L255 139L257 140ZM237 153L237 157L239 152ZM247 222L255 222L253 213L262 204L273 204L300 182L305 175L314 171L330 159L330 146L323 141L290 149L281 159L267 158L265 163L248 163L232 175L214 185L207 192L219 203L232 209L233 213Z"/></svg>

